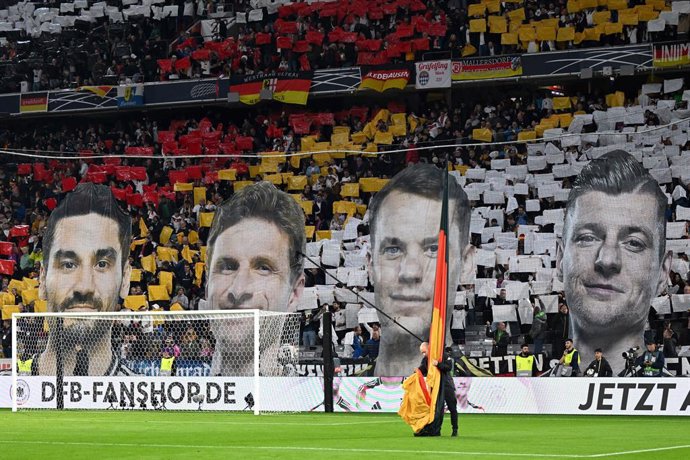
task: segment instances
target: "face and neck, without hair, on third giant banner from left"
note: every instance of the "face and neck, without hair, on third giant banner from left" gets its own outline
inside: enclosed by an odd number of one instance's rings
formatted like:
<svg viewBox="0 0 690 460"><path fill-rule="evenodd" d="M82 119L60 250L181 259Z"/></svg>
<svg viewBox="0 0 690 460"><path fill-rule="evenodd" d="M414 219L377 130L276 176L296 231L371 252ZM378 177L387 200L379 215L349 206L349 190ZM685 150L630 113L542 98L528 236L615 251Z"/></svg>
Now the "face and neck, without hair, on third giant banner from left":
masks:
<svg viewBox="0 0 690 460"><path fill-rule="evenodd" d="M438 257L440 200L393 191L381 203L372 225L370 275L376 306L418 337L425 338L431 327ZM455 298L460 282L463 257L471 251L461 245L459 216L449 205L449 280L448 305ZM377 375L405 375L418 360L415 342L408 332L381 318L386 344L376 364ZM448 319L447 329L450 327Z"/></svg>

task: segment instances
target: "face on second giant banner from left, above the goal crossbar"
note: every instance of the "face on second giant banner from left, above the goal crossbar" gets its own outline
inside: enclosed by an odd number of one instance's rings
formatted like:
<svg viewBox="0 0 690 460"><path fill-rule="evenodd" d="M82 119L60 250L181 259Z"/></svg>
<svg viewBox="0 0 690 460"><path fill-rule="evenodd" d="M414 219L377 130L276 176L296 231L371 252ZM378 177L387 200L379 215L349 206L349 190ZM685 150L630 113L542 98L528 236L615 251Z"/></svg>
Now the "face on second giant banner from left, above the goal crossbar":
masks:
<svg viewBox="0 0 690 460"><path fill-rule="evenodd" d="M287 234L267 220L247 218L225 229L209 261L211 308L295 311L304 281L291 282L289 252Z"/></svg>

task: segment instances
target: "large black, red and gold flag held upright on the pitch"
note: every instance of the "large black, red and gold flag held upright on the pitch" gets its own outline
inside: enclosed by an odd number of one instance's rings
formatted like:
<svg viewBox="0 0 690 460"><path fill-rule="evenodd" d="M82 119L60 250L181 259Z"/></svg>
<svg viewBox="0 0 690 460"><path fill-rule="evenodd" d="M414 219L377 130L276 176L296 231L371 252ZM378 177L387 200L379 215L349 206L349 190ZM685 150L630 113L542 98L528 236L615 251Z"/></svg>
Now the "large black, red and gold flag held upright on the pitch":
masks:
<svg viewBox="0 0 690 460"><path fill-rule="evenodd" d="M435 435L443 422L443 392L441 372L433 361L443 360L446 343L446 307L448 302L448 171L443 179L443 206L441 228L438 232L436 259L436 286L434 308L429 331L428 372L426 380L419 369L403 383L405 394L398 414L420 435Z"/></svg>

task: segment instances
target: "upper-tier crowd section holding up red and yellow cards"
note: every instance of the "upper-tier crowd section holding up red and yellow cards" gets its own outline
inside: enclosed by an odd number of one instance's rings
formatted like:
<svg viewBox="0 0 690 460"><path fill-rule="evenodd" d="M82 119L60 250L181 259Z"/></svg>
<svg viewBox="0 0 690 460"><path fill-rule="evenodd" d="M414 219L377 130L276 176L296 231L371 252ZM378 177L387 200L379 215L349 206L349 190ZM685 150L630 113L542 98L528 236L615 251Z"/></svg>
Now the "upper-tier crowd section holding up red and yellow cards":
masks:
<svg viewBox="0 0 690 460"><path fill-rule="evenodd" d="M259 21L243 20L231 35L227 27L206 36L185 35L171 59L159 64L162 78L190 78L404 63L426 56L616 46L686 36L688 15L670 10L663 1L296 3L262 14ZM647 22L658 21L661 12L675 19L667 23L662 16L664 23L648 31Z"/></svg>

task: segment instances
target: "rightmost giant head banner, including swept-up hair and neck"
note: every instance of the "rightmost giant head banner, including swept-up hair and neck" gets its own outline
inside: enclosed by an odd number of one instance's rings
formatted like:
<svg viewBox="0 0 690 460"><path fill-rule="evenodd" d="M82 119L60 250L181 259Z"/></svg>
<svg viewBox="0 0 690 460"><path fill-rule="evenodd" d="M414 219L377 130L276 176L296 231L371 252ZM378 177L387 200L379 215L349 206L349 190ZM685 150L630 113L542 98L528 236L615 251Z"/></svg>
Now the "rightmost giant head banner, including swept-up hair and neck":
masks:
<svg viewBox="0 0 690 460"><path fill-rule="evenodd" d="M621 356L642 337L652 298L666 287L671 269L666 203L656 180L620 150L578 176L557 268L584 356L597 348Z"/></svg>

